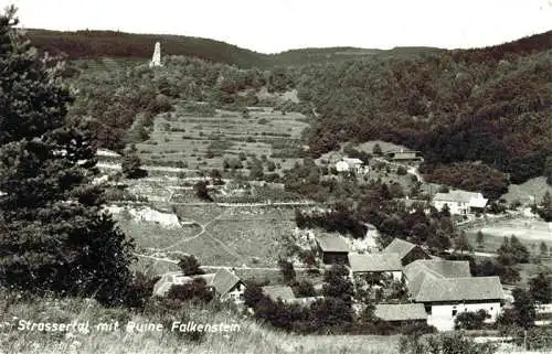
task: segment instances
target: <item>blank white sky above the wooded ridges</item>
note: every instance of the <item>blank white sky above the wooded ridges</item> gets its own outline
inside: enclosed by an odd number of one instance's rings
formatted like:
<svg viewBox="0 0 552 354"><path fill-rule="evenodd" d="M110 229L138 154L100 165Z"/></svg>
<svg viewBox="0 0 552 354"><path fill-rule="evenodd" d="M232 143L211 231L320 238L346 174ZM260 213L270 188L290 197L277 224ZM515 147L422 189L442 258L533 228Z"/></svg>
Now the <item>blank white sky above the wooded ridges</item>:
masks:
<svg viewBox="0 0 552 354"><path fill-rule="evenodd" d="M21 25L182 34L262 53L495 45L552 30L552 0L0 0Z"/></svg>

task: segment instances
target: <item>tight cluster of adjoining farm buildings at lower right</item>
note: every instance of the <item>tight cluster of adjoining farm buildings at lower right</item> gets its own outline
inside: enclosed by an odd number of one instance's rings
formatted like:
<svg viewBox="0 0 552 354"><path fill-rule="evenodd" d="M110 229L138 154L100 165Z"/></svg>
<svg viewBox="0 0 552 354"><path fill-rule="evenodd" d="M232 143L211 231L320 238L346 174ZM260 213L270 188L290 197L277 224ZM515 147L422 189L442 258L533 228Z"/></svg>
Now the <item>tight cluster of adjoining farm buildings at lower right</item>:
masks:
<svg viewBox="0 0 552 354"><path fill-rule="evenodd" d="M424 322L439 331L454 329L463 312L485 310L495 322L505 303L498 277L471 277L469 262L443 260L421 246L395 238L379 253L358 254L347 249L339 236L325 236L319 253L326 264L343 264L351 279L389 279L402 282L407 300L379 303L375 315L389 322Z"/></svg>

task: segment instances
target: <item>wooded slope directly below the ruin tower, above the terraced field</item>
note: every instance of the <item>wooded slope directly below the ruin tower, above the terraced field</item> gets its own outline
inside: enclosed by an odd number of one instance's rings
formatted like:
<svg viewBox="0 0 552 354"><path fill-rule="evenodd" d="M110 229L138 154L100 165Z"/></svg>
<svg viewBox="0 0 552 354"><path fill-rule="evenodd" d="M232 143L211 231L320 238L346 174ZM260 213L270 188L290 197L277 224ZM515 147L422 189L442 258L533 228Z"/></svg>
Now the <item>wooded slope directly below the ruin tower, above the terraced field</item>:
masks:
<svg viewBox="0 0 552 354"><path fill-rule="evenodd" d="M171 110L177 100L202 101L200 107L206 110L242 110L277 104L257 97L262 87L268 93L294 87L284 67L242 69L185 56L164 56L163 67L155 69L147 62L113 60L78 61L71 67L77 74L71 78L75 101L70 115L92 119L99 146L114 150L147 139L153 117Z"/></svg>

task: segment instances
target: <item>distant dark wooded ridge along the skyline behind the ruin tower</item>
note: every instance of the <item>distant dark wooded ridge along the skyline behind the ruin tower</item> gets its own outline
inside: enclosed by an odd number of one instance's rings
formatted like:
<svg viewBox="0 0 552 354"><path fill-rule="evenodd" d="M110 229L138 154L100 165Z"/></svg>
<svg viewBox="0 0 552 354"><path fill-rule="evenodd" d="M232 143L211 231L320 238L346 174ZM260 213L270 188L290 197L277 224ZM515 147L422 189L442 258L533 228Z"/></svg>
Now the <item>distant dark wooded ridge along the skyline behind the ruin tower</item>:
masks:
<svg viewBox="0 0 552 354"><path fill-rule="evenodd" d="M49 30L28 30L26 35L39 50L54 55L64 55L70 60L102 57L146 60L151 57L155 42L160 41L163 55L185 55L243 68L270 68L278 65L342 62L372 55L404 56L440 51L433 47L395 47L389 51L323 47L263 54L224 42L185 35L137 34L116 31L60 32Z"/></svg>

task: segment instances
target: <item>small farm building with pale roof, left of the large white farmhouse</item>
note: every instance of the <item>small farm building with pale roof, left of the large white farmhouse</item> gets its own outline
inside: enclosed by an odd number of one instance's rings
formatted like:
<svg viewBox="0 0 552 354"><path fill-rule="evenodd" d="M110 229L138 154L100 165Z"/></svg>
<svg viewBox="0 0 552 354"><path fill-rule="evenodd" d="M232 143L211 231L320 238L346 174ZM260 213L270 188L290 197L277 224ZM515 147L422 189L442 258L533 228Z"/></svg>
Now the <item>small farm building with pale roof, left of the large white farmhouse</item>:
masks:
<svg viewBox="0 0 552 354"><path fill-rule="evenodd" d="M403 277L397 254L349 254L349 265L353 276L381 275L401 281Z"/></svg>

